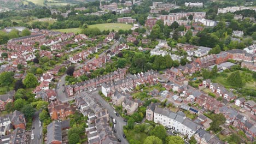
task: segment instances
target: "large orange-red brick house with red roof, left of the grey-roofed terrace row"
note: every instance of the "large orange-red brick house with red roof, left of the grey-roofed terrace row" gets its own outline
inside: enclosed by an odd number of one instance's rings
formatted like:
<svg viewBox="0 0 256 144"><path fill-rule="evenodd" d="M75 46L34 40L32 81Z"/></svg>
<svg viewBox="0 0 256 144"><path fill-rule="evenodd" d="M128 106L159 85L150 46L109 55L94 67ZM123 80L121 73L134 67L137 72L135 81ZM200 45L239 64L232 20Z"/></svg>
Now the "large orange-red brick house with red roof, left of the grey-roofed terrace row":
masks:
<svg viewBox="0 0 256 144"><path fill-rule="evenodd" d="M48 105L48 111L51 119L65 119L74 113L69 103L61 103L59 100L51 101Z"/></svg>

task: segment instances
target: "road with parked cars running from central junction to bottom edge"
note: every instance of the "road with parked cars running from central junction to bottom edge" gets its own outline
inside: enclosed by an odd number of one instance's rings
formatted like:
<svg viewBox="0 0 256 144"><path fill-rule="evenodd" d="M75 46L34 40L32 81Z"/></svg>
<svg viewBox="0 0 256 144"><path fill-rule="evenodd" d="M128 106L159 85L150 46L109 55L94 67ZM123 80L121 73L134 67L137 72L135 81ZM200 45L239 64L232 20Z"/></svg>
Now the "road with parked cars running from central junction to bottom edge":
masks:
<svg viewBox="0 0 256 144"><path fill-rule="evenodd" d="M109 113L109 117L114 117L117 121L117 124L116 124L116 130L117 130L117 133L114 133L114 135L117 137L117 138L120 138L121 139L121 143L125 143L125 144L129 144L129 142L124 139L123 137L123 127L124 125L126 125L126 122L124 122L124 118L123 117L117 117L114 113L114 108L108 104L108 102L106 100L104 100L101 95L98 94L98 91L94 91L91 93L92 97L95 98L103 107L105 107L106 109L108 109L108 113Z"/></svg>

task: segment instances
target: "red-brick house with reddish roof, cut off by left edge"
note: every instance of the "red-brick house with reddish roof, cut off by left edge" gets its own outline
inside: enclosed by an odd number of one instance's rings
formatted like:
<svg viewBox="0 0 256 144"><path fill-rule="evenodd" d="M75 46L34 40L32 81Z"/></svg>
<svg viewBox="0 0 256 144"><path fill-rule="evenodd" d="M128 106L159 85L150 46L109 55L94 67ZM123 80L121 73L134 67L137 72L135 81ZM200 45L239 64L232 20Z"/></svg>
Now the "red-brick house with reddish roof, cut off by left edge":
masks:
<svg viewBox="0 0 256 144"><path fill-rule="evenodd" d="M7 103L13 103L15 91L10 91L7 94L0 95L0 111L5 110Z"/></svg>

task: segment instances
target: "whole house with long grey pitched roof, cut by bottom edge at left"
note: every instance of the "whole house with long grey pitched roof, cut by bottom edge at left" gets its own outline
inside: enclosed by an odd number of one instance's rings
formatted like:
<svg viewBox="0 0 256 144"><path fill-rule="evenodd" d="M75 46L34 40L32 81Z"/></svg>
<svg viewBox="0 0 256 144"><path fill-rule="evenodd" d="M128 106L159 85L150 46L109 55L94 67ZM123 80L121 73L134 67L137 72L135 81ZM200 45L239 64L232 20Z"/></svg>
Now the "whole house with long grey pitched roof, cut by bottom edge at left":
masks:
<svg viewBox="0 0 256 144"><path fill-rule="evenodd" d="M61 144L65 141L65 136L62 132L66 131L70 127L70 120L61 122L53 121L47 126L47 142L51 144ZM63 140L62 140L63 139Z"/></svg>

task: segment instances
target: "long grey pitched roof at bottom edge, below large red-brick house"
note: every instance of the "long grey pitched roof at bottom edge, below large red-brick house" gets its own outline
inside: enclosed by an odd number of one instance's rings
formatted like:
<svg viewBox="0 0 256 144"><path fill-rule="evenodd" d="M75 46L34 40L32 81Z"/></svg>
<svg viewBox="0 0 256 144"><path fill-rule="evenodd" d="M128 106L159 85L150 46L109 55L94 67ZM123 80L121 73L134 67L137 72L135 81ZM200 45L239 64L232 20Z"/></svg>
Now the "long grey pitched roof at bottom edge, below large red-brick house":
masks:
<svg viewBox="0 0 256 144"><path fill-rule="evenodd" d="M54 140L62 142L61 122L54 121L47 126L47 143Z"/></svg>

